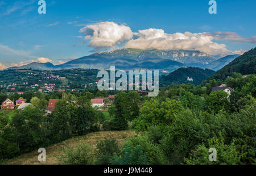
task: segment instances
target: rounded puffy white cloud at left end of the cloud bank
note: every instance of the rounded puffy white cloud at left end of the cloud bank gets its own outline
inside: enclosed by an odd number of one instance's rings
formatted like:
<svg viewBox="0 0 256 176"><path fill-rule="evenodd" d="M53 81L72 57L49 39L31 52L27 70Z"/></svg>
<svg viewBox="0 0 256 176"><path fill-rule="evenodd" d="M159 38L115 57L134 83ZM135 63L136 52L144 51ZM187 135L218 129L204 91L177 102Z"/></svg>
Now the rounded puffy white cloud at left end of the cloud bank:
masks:
<svg viewBox="0 0 256 176"><path fill-rule="evenodd" d="M90 40L88 44L90 47L113 47L133 37L130 27L114 22L90 24L81 28L80 32L84 33L85 40Z"/></svg>

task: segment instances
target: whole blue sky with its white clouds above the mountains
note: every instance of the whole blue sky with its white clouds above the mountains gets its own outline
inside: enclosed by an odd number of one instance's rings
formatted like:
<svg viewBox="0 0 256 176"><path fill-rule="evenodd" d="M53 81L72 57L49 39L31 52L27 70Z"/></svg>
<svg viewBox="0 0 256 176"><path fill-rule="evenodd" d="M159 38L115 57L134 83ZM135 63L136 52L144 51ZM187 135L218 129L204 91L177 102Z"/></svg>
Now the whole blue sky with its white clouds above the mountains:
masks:
<svg viewBox="0 0 256 176"><path fill-rule="evenodd" d="M38 0L0 0L0 69L32 61L60 64L122 47L211 55L255 47L256 1L216 0L217 14L209 14L208 2L46 0L46 14L38 14Z"/></svg>

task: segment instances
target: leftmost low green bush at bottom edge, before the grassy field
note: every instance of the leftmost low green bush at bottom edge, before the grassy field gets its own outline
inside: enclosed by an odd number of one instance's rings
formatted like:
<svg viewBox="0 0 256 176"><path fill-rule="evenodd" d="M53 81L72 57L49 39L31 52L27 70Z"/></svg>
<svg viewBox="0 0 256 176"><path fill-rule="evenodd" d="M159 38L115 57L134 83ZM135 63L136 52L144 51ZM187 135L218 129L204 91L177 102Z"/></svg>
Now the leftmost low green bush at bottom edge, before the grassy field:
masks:
<svg viewBox="0 0 256 176"><path fill-rule="evenodd" d="M92 149L87 144L79 144L76 148L64 148L64 154L58 157L59 163L64 165L93 164Z"/></svg>

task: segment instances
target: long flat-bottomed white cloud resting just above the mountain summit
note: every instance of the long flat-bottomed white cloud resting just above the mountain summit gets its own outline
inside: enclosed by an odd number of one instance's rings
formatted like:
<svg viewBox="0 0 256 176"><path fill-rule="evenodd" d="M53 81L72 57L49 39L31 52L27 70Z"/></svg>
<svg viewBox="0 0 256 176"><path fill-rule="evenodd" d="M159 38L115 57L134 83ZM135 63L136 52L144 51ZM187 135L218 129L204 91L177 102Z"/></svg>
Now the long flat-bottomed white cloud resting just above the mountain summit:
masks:
<svg viewBox="0 0 256 176"><path fill-rule="evenodd" d="M165 33L162 29L150 28L134 33L135 39L129 40L125 48L160 49L160 50L198 50L209 55L231 54L225 44L213 42L209 33Z"/></svg>

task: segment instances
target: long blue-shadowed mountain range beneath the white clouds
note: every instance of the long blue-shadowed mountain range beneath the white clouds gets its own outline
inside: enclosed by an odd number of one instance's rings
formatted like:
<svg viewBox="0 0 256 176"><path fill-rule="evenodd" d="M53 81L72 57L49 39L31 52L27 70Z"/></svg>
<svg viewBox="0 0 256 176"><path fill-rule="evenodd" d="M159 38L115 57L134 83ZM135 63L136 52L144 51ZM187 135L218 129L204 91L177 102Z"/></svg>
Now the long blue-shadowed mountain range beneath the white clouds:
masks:
<svg viewBox="0 0 256 176"><path fill-rule="evenodd" d="M94 53L89 56L77 58L60 65L49 62L32 62L28 65L11 67L7 69L37 69L37 70L61 70L61 69L109 69L114 65L118 69L159 69L173 72L176 69L187 66L221 69L239 55L230 55L217 60L216 57L200 51L186 50L143 50L143 49L117 49L110 52Z"/></svg>

